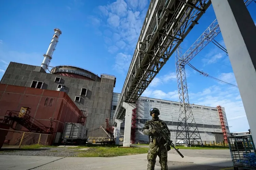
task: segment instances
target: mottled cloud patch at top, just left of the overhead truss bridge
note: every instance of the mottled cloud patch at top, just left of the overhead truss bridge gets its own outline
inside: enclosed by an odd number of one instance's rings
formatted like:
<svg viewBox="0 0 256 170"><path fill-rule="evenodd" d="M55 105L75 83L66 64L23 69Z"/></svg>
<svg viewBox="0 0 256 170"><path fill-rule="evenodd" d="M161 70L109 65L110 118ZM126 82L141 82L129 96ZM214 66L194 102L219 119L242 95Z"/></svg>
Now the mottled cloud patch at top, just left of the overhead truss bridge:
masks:
<svg viewBox="0 0 256 170"><path fill-rule="evenodd" d="M96 12L101 14L101 27L106 25L113 32L109 38L112 38L118 49L135 48L145 19L147 4L147 0L116 0L108 5L98 6Z"/></svg>

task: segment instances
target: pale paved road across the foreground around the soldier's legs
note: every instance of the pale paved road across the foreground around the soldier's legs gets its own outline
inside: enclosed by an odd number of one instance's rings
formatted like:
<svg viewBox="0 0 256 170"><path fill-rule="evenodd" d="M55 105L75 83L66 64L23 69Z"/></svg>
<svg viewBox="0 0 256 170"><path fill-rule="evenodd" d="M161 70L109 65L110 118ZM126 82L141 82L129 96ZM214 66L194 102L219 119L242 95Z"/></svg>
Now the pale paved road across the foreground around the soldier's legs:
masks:
<svg viewBox="0 0 256 170"><path fill-rule="evenodd" d="M168 167L171 170L221 170L231 167L232 162L224 150L180 150L181 158L176 153L168 153ZM210 157L215 154L216 157ZM145 170L147 154L105 157L43 157L0 155L1 170ZM223 157L223 158L222 158ZM15 161L14 161L15 160ZM160 170L157 163L155 170Z"/></svg>

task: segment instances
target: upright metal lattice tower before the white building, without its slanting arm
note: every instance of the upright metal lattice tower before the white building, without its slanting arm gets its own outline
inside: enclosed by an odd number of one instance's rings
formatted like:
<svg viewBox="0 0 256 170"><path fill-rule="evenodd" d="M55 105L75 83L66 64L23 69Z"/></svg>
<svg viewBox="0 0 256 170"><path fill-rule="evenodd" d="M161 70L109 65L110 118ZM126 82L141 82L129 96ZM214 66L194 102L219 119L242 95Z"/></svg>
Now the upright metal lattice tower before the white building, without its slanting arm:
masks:
<svg viewBox="0 0 256 170"><path fill-rule="evenodd" d="M186 145L191 145L195 140L201 142L202 139L198 132L196 121L193 116L192 108L188 100L187 80L184 61L180 57L179 48L176 50L176 75L179 91L179 118L177 125L176 143L183 141Z"/></svg>

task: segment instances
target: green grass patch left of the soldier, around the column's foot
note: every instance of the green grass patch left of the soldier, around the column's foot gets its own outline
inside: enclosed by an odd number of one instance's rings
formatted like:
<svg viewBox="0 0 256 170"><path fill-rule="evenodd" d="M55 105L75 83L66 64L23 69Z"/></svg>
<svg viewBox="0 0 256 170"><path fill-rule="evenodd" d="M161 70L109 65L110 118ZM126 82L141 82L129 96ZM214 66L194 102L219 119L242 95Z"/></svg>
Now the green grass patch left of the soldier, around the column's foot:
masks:
<svg viewBox="0 0 256 170"><path fill-rule="evenodd" d="M78 150L81 148L88 148L88 150ZM93 146L93 147L76 147L76 151L79 152L78 157L115 157L125 155L135 155L147 153L147 148L139 147L116 147L116 146Z"/></svg>

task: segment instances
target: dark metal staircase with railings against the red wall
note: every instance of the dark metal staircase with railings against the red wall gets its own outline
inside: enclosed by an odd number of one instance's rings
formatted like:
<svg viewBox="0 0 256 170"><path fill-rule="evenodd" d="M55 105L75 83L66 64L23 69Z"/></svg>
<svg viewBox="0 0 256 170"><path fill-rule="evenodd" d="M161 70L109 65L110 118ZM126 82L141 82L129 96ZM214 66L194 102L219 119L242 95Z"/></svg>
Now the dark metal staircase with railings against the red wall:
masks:
<svg viewBox="0 0 256 170"><path fill-rule="evenodd" d="M17 122L25 127L29 132L33 133L53 133L52 127L46 127L45 125L31 117L29 114L21 113L20 111L7 111L2 122L11 125L11 127L13 127L14 122Z"/></svg>

